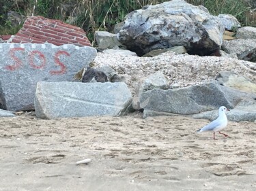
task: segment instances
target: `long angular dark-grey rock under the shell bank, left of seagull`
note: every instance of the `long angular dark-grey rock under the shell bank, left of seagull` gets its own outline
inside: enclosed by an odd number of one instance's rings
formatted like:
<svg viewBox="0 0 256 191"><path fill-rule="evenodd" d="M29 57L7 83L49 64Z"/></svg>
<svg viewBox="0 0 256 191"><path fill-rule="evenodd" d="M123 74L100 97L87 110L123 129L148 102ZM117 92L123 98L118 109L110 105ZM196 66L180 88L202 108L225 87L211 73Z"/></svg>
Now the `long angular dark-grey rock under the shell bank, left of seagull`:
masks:
<svg viewBox="0 0 256 191"><path fill-rule="evenodd" d="M202 111L218 109L221 105L233 108L249 97L245 92L221 86L218 82L188 88L143 92L139 97L140 105L144 108L144 117L157 115L158 112L173 114L198 114ZM248 99L253 99L249 97Z"/></svg>

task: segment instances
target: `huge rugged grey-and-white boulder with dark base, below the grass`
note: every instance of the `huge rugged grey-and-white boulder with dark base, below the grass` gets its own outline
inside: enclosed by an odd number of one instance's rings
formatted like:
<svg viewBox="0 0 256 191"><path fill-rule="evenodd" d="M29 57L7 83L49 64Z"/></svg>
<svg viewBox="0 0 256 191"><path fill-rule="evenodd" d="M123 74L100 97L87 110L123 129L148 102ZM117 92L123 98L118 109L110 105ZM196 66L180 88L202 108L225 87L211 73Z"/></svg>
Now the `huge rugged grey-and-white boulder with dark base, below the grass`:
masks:
<svg viewBox="0 0 256 191"><path fill-rule="evenodd" d="M139 56L156 49L184 46L188 54L210 55L222 44L221 21L199 5L173 0L128 14L119 41Z"/></svg>

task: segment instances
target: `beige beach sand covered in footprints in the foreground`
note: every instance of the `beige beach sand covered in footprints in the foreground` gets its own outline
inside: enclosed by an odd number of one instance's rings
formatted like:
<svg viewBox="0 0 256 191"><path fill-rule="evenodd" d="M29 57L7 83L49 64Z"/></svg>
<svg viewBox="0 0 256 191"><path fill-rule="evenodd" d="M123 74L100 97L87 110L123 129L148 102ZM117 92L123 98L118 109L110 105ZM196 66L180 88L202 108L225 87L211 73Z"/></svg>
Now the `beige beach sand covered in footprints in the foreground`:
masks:
<svg viewBox="0 0 256 191"><path fill-rule="evenodd" d="M188 116L0 123L0 190L256 190L253 122L229 122L215 141Z"/></svg>

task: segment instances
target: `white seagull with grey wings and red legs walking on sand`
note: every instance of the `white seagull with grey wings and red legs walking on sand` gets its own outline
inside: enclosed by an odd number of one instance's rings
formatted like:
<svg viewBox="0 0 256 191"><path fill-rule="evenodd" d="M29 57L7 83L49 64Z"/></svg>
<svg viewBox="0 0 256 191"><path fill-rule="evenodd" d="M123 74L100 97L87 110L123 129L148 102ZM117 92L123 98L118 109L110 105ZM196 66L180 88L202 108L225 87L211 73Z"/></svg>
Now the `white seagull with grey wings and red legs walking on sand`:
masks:
<svg viewBox="0 0 256 191"><path fill-rule="evenodd" d="M216 118L216 120L210 122L210 124L197 130L197 133L201 133L203 131L213 131L214 132L214 140L216 140L215 139L216 131L218 131L218 133L224 135L225 137L229 137L228 135L221 133L221 129L223 129L223 128L225 128L225 126L227 126L227 116L225 114L225 111L230 111L230 110L227 109L225 106L221 106L218 109L218 118Z"/></svg>

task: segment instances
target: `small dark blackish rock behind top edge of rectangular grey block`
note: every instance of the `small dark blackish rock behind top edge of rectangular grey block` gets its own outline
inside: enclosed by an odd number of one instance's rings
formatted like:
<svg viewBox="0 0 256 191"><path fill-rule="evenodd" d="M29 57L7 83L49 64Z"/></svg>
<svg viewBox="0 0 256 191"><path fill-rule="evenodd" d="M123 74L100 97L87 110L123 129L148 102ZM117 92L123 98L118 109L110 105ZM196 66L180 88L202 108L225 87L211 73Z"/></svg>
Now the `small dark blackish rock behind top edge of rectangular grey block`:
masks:
<svg viewBox="0 0 256 191"><path fill-rule="evenodd" d="M102 71L87 67L82 78L82 82L108 82L108 77Z"/></svg>

